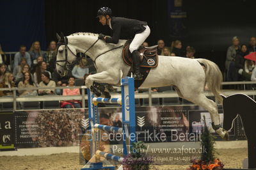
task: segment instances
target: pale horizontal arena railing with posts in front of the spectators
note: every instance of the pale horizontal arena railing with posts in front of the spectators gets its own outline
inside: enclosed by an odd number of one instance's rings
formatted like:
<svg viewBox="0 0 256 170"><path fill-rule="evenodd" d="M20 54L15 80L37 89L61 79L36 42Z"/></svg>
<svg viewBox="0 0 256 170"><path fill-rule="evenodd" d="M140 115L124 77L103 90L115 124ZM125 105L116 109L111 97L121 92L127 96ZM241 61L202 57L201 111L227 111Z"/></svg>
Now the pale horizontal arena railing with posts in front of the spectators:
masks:
<svg viewBox="0 0 256 170"><path fill-rule="evenodd" d="M244 89L242 90L234 90L234 89L223 89L221 93L225 96L233 95L234 93L243 93L245 95L254 96L256 95L256 91L254 89L246 90L246 84L256 84L256 82L223 82L222 85L236 85L236 84L244 84ZM18 90L38 90L38 89L74 89L79 88L81 89L81 95L74 95L74 96L63 96L63 95L44 95L44 96L24 96L19 97L17 96ZM44 102L44 101L61 101L61 100L81 100L82 107L86 108L86 100L88 99L86 95L86 86L74 86L74 87L54 87L54 88L0 88L0 90L12 90L13 95L8 97L0 97L0 103L3 102L13 102L13 111L17 111L17 102ZM148 91L148 93L135 93L135 98L148 98L148 105L152 105L152 98L175 98L178 97L175 91L168 91L168 92L152 92L151 88L144 89ZM205 91L205 95L207 97L213 97L213 94L209 91ZM120 97L120 93L111 93L111 97L117 98Z"/></svg>

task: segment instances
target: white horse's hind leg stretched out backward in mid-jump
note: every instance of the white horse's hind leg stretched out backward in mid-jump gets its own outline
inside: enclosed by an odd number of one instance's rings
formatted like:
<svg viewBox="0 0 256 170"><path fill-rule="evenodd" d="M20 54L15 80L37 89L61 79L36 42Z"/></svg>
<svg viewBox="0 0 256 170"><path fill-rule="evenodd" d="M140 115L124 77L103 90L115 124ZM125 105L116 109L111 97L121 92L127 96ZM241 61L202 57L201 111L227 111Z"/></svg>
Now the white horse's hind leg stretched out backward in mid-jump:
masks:
<svg viewBox="0 0 256 170"><path fill-rule="evenodd" d="M210 112L211 120L212 120L212 128L215 130L220 137L228 139L228 132L224 131L220 125L220 115L218 113L218 106L215 102L205 97L204 93L200 93L195 95L193 98L188 98L191 102L196 105L200 105L204 107L207 111Z"/></svg>

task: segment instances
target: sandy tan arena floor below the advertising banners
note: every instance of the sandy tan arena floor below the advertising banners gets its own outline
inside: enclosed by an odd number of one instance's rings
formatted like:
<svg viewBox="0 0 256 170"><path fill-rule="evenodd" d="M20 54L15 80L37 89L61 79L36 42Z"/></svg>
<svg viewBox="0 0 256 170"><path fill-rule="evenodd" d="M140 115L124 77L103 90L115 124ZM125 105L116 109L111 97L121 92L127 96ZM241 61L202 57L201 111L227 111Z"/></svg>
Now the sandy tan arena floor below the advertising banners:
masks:
<svg viewBox="0 0 256 170"><path fill-rule="evenodd" d="M247 148L217 149L218 158L225 168L241 168L247 157ZM1 154L1 153L0 153ZM81 169L79 153L58 153L51 155L1 156L0 169ZM188 169L189 166L157 165L152 169Z"/></svg>

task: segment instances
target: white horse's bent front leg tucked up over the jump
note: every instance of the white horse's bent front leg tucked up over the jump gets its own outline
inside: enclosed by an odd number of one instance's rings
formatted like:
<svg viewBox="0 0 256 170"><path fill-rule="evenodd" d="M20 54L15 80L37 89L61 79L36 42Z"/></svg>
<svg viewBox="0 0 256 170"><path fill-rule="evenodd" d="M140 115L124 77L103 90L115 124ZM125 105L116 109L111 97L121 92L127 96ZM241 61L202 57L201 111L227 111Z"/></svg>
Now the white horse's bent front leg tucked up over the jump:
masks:
<svg viewBox="0 0 256 170"><path fill-rule="evenodd" d="M86 77L85 84L98 97L103 94L106 98L110 98L111 96L109 92L105 91L105 87L99 83L118 84L118 81L118 75L110 75L108 72L104 71L88 75L88 77Z"/></svg>

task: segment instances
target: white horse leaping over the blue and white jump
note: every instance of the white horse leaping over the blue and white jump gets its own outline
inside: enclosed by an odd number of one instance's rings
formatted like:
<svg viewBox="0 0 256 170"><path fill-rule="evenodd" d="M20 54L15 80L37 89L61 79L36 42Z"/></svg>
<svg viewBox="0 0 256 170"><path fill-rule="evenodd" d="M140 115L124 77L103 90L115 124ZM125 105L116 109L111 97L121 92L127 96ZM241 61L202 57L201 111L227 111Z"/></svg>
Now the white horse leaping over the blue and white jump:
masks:
<svg viewBox="0 0 256 170"><path fill-rule="evenodd" d="M122 77L127 76L130 66L122 58L122 46L125 40L118 44L98 40L93 33L75 33L59 37L56 69L64 75L67 68L76 61L77 52L85 52L94 61L97 73L86 78L86 86L95 88L93 82L120 86L120 70ZM203 66L204 67L203 67ZM196 105L204 107L211 114L212 127L222 137L227 139L228 133L220 126L220 116L217 104L205 97L204 88L207 84L218 102L222 102L220 88L222 74L218 66L207 59L189 59L170 56L159 56L158 66L151 68L147 79L141 88L174 86L179 97L185 98Z"/></svg>

